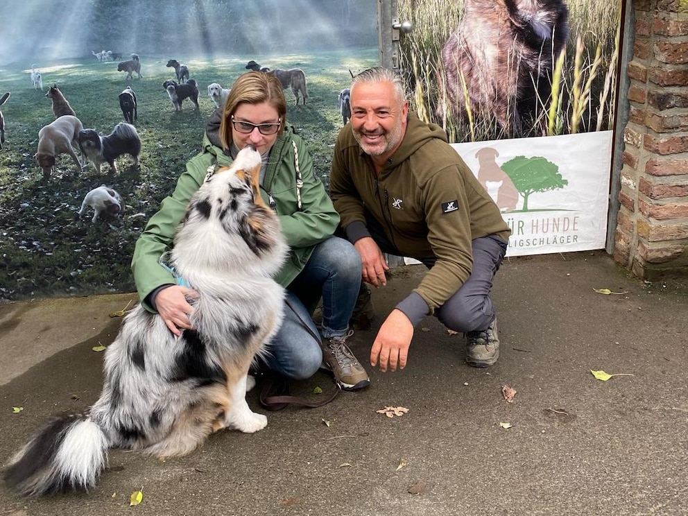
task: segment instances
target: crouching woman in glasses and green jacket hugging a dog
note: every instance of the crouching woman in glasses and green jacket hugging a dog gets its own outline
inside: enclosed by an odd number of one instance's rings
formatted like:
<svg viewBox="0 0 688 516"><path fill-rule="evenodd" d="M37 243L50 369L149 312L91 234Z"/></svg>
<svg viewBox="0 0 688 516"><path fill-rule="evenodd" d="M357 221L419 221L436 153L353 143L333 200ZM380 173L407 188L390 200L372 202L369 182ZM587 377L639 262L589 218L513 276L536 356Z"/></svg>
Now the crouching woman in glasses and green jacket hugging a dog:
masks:
<svg viewBox="0 0 688 516"><path fill-rule="evenodd" d="M361 259L354 247L333 236L339 216L313 171L304 142L286 124L282 84L270 74L240 76L225 106L214 112L203 150L187 163L171 197L150 218L139 237L132 271L144 307L157 312L170 331L190 329L193 290L178 284L164 265L184 211L209 171L232 162L246 145L263 156L261 195L275 209L289 244L289 257L275 281L286 288L284 322L264 359L269 370L293 379L311 377L321 365L341 388L370 384L368 374L346 345L361 284ZM311 311L322 295L322 338Z"/></svg>

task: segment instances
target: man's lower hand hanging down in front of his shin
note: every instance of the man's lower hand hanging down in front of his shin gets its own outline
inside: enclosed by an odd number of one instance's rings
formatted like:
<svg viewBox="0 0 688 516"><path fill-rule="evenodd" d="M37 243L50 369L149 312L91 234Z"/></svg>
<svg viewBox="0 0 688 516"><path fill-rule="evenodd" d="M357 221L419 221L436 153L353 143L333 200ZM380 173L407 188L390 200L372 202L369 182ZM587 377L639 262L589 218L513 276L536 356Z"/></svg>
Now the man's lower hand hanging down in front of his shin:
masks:
<svg viewBox="0 0 688 516"><path fill-rule="evenodd" d="M396 371L406 367L408 347L413 338L413 324L401 310L394 309L382 323L375 342L370 350L370 365L375 367L379 359L380 370L386 372L387 366Z"/></svg>

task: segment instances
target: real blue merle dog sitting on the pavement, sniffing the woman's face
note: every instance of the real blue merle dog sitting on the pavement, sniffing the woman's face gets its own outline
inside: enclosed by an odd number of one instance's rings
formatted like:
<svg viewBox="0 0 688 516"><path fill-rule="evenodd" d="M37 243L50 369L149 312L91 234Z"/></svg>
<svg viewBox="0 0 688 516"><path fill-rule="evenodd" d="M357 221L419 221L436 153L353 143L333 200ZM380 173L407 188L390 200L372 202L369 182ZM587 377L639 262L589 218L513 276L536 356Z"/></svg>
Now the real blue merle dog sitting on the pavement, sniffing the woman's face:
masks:
<svg viewBox="0 0 688 516"><path fill-rule="evenodd" d="M272 275L287 247L260 197L260 166L243 148L193 195L175 234L170 265L198 293L194 329L177 337L140 304L130 311L105 351L101 397L35 433L11 460L8 487L26 496L88 490L110 448L184 456L214 431L266 427L246 403L247 375L282 322L284 289Z"/></svg>

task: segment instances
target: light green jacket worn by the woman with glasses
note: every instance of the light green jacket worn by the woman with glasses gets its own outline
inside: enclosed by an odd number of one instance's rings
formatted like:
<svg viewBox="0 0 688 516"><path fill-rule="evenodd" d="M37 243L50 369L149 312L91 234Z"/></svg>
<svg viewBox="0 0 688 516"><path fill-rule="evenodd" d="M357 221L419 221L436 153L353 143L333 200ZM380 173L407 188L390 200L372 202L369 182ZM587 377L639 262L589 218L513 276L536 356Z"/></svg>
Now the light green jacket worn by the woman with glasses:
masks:
<svg viewBox="0 0 688 516"><path fill-rule="evenodd" d="M165 198L160 210L150 218L146 229L136 242L132 258L132 273L141 303L148 311L148 294L164 284L175 284L175 277L160 265L164 252L173 245L174 234L193 193L203 184L209 166L228 166L232 157L223 152L218 130L217 112L208 123L203 137L203 150L191 158L180 175L171 196ZM303 186L300 189L302 207L297 207L296 166L292 142L298 149L298 162ZM288 286L298 276L311 257L316 244L334 234L339 216L325 187L313 170L313 160L304 141L286 126L270 151L270 158L261 185L261 196L275 209L282 233L289 245L289 258L275 276L282 286Z"/></svg>

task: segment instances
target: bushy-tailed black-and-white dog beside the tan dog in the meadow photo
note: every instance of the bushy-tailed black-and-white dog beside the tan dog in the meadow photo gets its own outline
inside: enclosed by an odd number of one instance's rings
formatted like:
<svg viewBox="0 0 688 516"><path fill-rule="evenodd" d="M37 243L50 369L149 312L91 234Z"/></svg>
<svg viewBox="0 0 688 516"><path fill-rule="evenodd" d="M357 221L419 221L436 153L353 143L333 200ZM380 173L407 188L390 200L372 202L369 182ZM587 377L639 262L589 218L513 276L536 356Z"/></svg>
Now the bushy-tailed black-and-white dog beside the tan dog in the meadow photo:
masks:
<svg viewBox="0 0 688 516"><path fill-rule="evenodd" d="M120 122L114 126L107 136L98 135L94 129L83 129L76 137L81 152L96 166L96 172L101 173L101 164L110 164L110 172L117 172L114 162L124 154L134 158L134 166L139 166L141 154L141 139L136 128L130 123Z"/></svg>

